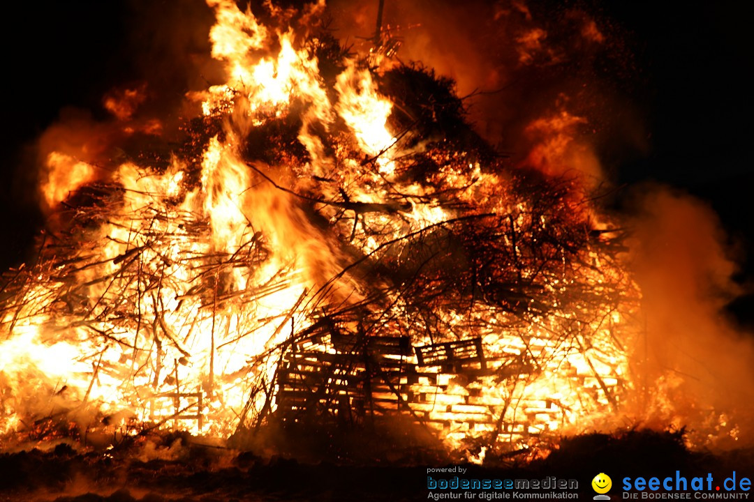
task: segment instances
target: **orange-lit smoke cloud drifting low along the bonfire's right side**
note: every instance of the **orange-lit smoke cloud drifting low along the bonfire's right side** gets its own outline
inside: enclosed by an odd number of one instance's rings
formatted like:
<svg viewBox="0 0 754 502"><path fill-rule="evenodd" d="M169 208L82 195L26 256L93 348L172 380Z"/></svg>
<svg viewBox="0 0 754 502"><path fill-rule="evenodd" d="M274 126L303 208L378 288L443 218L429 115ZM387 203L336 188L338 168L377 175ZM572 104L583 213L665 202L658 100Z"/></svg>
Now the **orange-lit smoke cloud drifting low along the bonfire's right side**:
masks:
<svg viewBox="0 0 754 502"><path fill-rule="evenodd" d="M735 249L705 203L666 187L636 196L633 272L642 291L634 370L642 415L719 448L750 438L754 343L724 309L741 289ZM641 329L643 328L643 329Z"/></svg>

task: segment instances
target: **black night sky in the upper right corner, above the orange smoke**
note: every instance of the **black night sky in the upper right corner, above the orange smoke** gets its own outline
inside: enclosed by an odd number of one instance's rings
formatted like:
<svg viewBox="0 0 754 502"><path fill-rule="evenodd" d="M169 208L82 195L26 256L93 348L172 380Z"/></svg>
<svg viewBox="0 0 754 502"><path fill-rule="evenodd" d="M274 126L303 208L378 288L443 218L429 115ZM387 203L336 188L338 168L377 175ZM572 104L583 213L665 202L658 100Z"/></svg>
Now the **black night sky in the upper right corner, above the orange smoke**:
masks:
<svg viewBox="0 0 754 502"><path fill-rule="evenodd" d="M679 187L710 202L730 240L742 251L737 281L754 279L754 154L752 39L734 2L703 7L682 2L610 2L608 15L633 32L637 60L649 79L637 104L648 111L651 150L625 162L619 181ZM729 306L745 324L754 298Z"/></svg>

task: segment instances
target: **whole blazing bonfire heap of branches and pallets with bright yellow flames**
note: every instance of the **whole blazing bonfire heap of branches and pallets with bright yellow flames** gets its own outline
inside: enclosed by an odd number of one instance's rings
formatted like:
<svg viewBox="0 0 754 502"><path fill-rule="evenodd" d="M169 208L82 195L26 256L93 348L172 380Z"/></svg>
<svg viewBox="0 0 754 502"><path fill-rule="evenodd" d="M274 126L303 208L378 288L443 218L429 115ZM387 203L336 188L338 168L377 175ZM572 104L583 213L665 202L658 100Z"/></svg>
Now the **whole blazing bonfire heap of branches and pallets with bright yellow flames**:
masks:
<svg viewBox="0 0 754 502"><path fill-rule="evenodd" d="M380 91L420 70L344 55L327 79L327 41L208 3L228 80L188 96L196 154L107 174L48 155L42 198L69 221L4 276L0 434L401 416L482 461L624 425L640 294L578 180L421 138ZM106 102L124 132L143 92ZM295 148L249 160L286 121ZM532 130L562 149L550 122Z"/></svg>

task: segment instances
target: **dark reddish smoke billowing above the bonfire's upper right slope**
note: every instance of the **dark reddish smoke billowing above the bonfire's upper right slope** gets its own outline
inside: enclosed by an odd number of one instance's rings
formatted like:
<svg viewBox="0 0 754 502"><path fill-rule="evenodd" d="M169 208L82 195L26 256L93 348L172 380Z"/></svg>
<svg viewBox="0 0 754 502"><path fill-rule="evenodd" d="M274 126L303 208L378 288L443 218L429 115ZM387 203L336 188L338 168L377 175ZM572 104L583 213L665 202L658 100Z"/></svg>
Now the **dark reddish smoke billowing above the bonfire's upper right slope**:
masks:
<svg viewBox="0 0 754 502"><path fill-rule="evenodd" d="M370 47L377 2L329 8L336 35ZM629 37L611 20L577 5L420 0L385 2L382 26L400 60L455 80L477 132L513 166L591 189L647 149Z"/></svg>

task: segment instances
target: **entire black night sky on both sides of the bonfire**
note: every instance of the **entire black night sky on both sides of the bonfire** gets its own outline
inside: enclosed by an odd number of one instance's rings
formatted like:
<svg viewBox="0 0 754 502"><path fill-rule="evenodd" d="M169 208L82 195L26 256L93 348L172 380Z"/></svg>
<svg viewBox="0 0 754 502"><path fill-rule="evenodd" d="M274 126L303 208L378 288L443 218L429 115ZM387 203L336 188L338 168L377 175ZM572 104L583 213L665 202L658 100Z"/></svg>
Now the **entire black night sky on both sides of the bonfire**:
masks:
<svg viewBox="0 0 754 502"><path fill-rule="evenodd" d="M181 5L186 4L29 2L6 16L0 268L28 258L42 224L30 193L34 163L28 145L61 108L72 105L102 114L100 103L107 90L149 79L148 68L159 66L165 54L158 31L170 26L155 23L155 17L177 16L176 29L202 17L201 9L182 16ZM749 216L749 192L754 186L750 147L754 107L748 75L754 69L754 44L743 5L710 2L698 8L682 2L605 2L587 7L627 33L643 75L630 99L645 117L650 147L627 155L618 164L616 181L661 181L710 202L731 242L744 251L737 279L752 281L754 220ZM203 49L195 37L189 39L192 50ZM178 81L183 78L176 75ZM751 322L754 301L737 300L731 311Z"/></svg>

